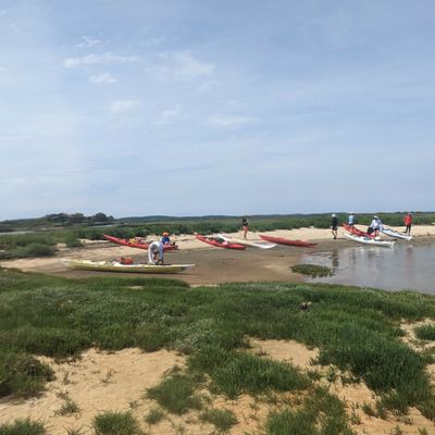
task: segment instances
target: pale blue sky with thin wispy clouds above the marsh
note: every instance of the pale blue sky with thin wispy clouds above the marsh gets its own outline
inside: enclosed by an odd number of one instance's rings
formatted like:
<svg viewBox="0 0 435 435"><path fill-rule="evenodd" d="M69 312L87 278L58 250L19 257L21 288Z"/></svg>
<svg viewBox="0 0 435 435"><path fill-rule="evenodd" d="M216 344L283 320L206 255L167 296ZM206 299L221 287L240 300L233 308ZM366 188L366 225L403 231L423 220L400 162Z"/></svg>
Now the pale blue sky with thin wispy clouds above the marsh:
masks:
<svg viewBox="0 0 435 435"><path fill-rule="evenodd" d="M435 209L432 0L0 0L0 220Z"/></svg>

